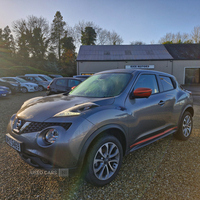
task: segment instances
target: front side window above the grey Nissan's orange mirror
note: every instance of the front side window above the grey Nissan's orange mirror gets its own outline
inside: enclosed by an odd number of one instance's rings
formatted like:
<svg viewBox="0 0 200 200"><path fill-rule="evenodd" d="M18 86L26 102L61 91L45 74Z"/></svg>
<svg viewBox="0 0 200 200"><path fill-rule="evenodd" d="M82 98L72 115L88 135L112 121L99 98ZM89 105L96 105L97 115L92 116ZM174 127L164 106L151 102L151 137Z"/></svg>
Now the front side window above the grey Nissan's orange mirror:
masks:
<svg viewBox="0 0 200 200"><path fill-rule="evenodd" d="M137 80L134 89L137 88L150 88L152 89L152 94L159 93L158 83L156 76L153 74L143 74Z"/></svg>

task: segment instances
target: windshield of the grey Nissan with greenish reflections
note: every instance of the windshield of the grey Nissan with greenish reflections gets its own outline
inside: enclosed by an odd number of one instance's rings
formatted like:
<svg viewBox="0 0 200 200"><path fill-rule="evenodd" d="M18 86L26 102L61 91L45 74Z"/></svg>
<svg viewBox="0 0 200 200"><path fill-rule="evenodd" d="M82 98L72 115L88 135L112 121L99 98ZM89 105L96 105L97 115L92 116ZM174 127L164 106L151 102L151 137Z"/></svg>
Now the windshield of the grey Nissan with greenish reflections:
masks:
<svg viewBox="0 0 200 200"><path fill-rule="evenodd" d="M82 97L114 97L119 95L131 78L127 73L108 73L93 75L74 90L69 95Z"/></svg>

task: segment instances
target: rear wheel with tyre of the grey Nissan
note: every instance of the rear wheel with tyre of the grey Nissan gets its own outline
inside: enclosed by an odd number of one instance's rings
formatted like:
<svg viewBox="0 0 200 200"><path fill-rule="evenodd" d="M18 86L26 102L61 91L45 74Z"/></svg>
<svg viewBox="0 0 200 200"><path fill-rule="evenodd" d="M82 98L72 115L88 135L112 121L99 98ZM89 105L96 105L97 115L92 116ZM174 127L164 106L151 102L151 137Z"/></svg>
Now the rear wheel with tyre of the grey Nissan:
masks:
<svg viewBox="0 0 200 200"><path fill-rule="evenodd" d="M181 118L178 131L174 134L175 138L183 141L187 140L192 133L192 127L192 115L190 112L186 111Z"/></svg>

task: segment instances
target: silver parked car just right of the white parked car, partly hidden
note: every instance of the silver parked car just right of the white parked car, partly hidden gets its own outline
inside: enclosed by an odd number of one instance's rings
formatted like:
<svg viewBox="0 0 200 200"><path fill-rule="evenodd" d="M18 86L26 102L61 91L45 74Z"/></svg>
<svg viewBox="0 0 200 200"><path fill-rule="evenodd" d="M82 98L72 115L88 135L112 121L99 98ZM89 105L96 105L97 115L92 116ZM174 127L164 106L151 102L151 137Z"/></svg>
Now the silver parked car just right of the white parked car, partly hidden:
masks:
<svg viewBox="0 0 200 200"><path fill-rule="evenodd" d="M47 86L49 85L48 81L43 81L41 78L38 76L18 76L20 78L23 78L24 80L31 82L31 83L36 83L38 84L38 91L46 90Z"/></svg>

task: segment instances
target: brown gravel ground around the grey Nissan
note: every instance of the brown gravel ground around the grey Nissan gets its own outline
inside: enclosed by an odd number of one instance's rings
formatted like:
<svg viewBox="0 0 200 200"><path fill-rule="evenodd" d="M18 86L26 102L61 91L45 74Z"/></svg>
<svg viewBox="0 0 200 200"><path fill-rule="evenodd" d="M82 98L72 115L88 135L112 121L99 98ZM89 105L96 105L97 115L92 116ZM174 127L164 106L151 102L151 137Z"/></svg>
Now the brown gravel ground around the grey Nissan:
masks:
<svg viewBox="0 0 200 200"><path fill-rule="evenodd" d="M44 174L7 146L11 115L25 100L41 95L45 92L0 99L0 199L200 199L200 106L194 106L194 128L188 141L168 136L129 154L117 178L98 188L79 176Z"/></svg>

